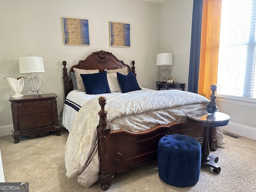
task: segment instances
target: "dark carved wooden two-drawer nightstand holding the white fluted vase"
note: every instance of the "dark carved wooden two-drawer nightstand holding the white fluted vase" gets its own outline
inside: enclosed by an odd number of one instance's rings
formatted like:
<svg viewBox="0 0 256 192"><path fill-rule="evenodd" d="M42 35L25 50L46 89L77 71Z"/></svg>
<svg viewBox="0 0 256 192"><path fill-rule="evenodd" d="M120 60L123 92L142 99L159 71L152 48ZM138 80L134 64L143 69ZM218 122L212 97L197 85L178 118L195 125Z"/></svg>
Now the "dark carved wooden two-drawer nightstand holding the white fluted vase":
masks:
<svg viewBox="0 0 256 192"><path fill-rule="evenodd" d="M58 124L57 95L22 96L10 98L14 143L20 142L20 136L44 136L55 131L60 136Z"/></svg>

